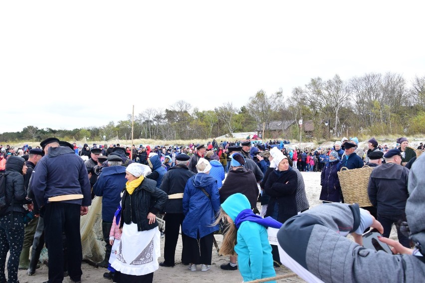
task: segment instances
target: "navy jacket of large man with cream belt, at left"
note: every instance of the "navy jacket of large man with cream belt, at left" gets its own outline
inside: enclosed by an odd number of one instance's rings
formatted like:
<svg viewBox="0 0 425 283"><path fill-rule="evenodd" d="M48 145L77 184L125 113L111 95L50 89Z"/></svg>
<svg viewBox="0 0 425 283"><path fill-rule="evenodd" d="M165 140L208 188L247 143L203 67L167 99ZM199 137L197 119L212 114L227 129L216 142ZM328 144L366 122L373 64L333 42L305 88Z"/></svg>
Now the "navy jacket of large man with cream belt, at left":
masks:
<svg viewBox="0 0 425 283"><path fill-rule="evenodd" d="M31 189L41 207L48 198L59 195L82 194L83 199L63 202L91 205L90 182L83 159L67 146L50 147L32 171Z"/></svg>

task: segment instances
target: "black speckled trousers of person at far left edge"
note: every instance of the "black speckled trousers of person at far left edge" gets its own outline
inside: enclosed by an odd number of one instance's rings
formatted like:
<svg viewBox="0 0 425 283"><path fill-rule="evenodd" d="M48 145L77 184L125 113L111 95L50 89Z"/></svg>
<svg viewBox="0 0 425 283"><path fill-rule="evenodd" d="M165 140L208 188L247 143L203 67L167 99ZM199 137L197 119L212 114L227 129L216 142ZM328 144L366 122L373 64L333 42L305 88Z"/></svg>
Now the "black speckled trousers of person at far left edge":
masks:
<svg viewBox="0 0 425 283"><path fill-rule="evenodd" d="M0 217L0 282L5 283L4 266L7 252L10 252L7 261L7 282L16 283L19 266L19 256L23 244L23 214L14 211L12 219L10 213Z"/></svg>

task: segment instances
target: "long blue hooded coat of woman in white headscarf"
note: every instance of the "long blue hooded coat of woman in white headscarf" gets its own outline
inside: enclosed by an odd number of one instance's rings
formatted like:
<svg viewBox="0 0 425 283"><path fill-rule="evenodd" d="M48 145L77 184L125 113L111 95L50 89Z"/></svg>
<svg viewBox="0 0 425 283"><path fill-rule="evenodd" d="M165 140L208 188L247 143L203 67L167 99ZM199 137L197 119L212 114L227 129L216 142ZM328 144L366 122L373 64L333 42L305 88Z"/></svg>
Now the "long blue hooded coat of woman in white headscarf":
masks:
<svg viewBox="0 0 425 283"><path fill-rule="evenodd" d="M210 197L201 188L204 188ZM219 209L220 195L214 177L205 173L192 176L186 183L183 194L185 219L182 232L186 236L198 239L218 231L218 225L211 226L211 224L214 223Z"/></svg>

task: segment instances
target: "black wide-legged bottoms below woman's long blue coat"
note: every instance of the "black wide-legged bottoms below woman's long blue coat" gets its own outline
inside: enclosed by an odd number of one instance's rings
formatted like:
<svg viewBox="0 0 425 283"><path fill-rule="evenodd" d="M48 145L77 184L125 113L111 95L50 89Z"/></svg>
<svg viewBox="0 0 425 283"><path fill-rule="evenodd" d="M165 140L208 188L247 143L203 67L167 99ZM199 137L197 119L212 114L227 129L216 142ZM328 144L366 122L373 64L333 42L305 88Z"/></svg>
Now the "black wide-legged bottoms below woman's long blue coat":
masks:
<svg viewBox="0 0 425 283"><path fill-rule="evenodd" d="M213 233L208 234L201 239L194 239L186 236L185 248L182 253L182 261L184 263L192 263L196 265L211 265L211 258L213 256L213 237Z"/></svg>

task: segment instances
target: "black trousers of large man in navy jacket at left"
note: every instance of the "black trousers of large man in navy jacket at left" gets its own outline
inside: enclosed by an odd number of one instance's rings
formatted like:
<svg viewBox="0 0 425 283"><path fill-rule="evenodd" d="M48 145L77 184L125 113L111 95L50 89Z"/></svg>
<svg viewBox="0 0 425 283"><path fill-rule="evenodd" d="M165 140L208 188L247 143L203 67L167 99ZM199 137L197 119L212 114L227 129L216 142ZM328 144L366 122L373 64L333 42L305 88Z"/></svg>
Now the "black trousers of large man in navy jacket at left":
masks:
<svg viewBox="0 0 425 283"><path fill-rule="evenodd" d="M44 235L49 256L49 283L63 281L63 239L65 232L68 274L78 281L81 279L82 248L80 236L80 205L65 202L51 202L45 205Z"/></svg>

